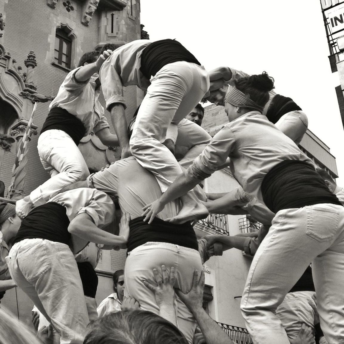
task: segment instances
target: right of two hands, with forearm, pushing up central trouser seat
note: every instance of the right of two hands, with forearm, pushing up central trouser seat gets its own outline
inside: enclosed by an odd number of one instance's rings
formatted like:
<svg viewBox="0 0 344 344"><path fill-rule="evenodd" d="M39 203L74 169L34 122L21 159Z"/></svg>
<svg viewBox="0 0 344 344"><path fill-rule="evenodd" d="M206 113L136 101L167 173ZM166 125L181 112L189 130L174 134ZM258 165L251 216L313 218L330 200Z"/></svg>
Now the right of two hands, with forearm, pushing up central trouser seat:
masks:
<svg viewBox="0 0 344 344"><path fill-rule="evenodd" d="M203 309L203 289L204 271L195 270L191 290L184 294L181 290L176 289L176 294L192 312L207 344L234 344L226 332Z"/></svg>

